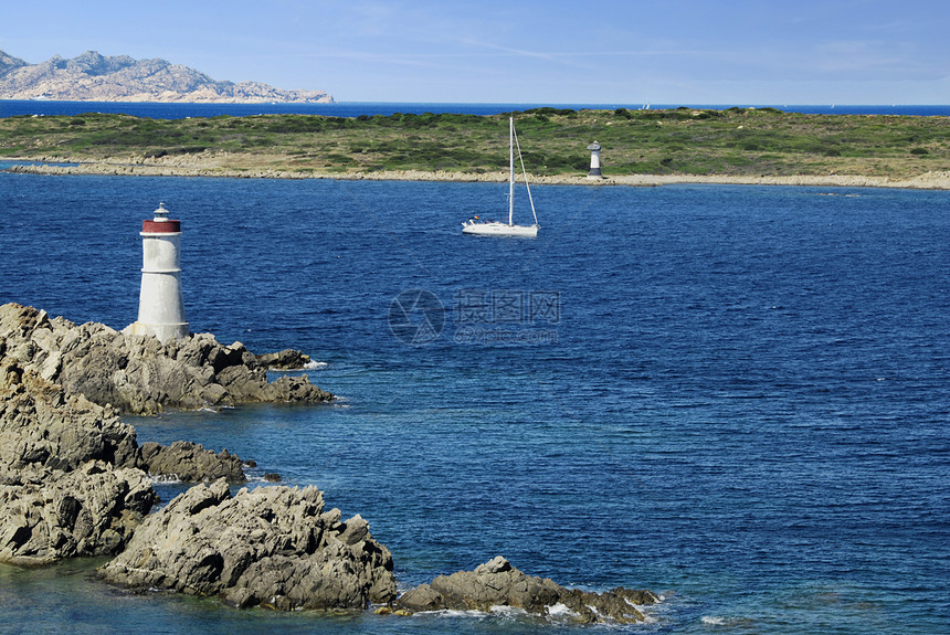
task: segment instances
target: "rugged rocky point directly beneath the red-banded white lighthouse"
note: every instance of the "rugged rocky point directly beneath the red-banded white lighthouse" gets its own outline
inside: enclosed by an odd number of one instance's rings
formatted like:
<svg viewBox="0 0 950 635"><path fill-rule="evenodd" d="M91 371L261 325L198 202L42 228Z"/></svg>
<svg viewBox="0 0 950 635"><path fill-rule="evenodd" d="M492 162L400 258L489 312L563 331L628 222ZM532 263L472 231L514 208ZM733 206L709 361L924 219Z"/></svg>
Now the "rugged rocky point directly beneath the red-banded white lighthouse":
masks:
<svg viewBox="0 0 950 635"><path fill-rule="evenodd" d="M161 343L105 325L76 326L18 304L0 306L7 357L66 392L122 412L154 414L165 408L239 403L320 403L334 395L307 375L267 380L267 369L241 342L219 343L210 334ZM303 353L299 353L303 358Z"/></svg>

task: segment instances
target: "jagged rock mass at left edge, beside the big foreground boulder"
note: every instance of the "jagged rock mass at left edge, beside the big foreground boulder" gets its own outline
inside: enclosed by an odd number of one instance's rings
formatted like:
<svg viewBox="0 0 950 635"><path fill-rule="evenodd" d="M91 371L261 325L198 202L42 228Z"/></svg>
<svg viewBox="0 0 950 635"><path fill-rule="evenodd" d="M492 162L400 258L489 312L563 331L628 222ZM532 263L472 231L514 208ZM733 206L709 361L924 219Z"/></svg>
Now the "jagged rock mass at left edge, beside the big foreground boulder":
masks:
<svg viewBox="0 0 950 635"><path fill-rule="evenodd" d="M0 562L49 564L119 552L156 502L140 469L93 461L64 472L0 468Z"/></svg>

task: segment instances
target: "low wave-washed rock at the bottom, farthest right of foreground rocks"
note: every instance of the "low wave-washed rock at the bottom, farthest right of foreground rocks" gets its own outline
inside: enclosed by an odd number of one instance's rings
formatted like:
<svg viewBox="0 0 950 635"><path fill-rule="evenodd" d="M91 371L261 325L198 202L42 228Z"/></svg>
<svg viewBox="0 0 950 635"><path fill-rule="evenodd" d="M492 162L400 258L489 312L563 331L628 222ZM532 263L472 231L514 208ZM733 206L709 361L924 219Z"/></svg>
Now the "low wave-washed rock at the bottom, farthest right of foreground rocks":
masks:
<svg viewBox="0 0 950 635"><path fill-rule="evenodd" d="M604 593L566 589L548 578L527 575L500 555L474 571L440 575L399 597L399 611L489 611L513 606L536 615L549 615L557 607L580 623L642 622L638 606L659 599L650 591L618 588Z"/></svg>

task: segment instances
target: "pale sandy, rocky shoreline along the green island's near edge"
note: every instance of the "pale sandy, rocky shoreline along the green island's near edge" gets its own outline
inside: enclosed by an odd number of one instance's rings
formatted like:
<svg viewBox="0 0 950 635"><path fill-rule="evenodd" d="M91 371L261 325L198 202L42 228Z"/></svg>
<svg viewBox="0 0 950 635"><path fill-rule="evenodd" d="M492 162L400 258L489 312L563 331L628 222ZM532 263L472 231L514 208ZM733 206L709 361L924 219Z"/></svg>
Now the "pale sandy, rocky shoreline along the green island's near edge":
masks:
<svg viewBox="0 0 950 635"><path fill-rule="evenodd" d="M178 157L129 157L128 161L86 161L73 158L45 157L38 165L33 159L24 165L8 168L10 172L31 174L99 174L139 177L219 177L234 179L338 179L367 181L450 181L450 182L506 182L508 173L450 172L421 170L380 170L372 172L318 172L295 171L281 167L234 167L235 163L253 165L251 157L234 157L224 154L202 152ZM275 160L277 159L277 160ZM256 166L279 166L279 158L262 157ZM74 165L51 165L74 163ZM950 171L926 172L911 178L873 177L859 174L800 174L800 176L729 176L729 174L606 174L602 179L587 176L532 177L532 183L551 186L629 186L657 187L674 183L718 183L743 186L814 186L830 188L905 188L922 190L950 190Z"/></svg>

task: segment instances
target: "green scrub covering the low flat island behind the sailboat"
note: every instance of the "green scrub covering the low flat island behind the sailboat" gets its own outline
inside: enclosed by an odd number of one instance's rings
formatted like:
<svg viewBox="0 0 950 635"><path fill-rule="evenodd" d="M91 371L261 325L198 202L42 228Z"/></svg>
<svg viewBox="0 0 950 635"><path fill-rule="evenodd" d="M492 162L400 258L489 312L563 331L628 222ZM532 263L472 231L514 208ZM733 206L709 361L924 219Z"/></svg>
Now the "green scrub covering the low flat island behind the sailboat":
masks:
<svg viewBox="0 0 950 635"><path fill-rule="evenodd" d="M950 169L950 117L801 115L774 108L514 113L527 170L604 174L908 178ZM0 158L135 165L215 157L230 171L368 173L505 170L508 114L318 115L150 119L128 115L0 118Z"/></svg>

